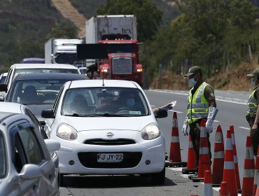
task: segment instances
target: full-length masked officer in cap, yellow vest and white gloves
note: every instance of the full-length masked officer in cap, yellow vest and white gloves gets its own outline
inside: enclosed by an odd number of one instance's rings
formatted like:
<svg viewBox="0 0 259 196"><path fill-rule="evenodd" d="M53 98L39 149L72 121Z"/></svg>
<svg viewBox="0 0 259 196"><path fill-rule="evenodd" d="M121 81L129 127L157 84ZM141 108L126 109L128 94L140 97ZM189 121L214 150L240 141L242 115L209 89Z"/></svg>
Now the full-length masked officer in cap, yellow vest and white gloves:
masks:
<svg viewBox="0 0 259 196"><path fill-rule="evenodd" d="M213 121L218 109L216 109L216 99L214 90L208 83L202 80L202 69L200 66L190 67L185 75L193 86L188 96L187 115L183 123L183 134L188 135L187 129L190 126L190 137L196 153L196 166L199 163L200 155L200 131L202 119L207 120L206 130L209 146L209 157L211 158L211 143L209 134L213 131Z"/></svg>

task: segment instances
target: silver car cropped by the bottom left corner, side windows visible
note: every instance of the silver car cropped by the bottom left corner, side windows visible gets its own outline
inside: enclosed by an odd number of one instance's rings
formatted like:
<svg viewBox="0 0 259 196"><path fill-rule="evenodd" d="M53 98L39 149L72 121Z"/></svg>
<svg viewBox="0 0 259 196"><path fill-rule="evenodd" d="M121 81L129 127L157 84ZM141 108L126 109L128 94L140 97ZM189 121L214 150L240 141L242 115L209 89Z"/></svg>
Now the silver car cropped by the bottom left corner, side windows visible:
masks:
<svg viewBox="0 0 259 196"><path fill-rule="evenodd" d="M41 137L25 114L0 112L0 194L59 195L50 153L60 144Z"/></svg>

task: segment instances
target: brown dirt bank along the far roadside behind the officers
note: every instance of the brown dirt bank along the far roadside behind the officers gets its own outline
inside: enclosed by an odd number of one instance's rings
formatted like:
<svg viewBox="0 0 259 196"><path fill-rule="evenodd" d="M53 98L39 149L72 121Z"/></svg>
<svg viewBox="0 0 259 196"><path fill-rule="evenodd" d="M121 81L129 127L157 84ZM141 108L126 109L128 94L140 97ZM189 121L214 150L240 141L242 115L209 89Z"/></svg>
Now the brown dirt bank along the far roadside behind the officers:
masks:
<svg viewBox="0 0 259 196"><path fill-rule="evenodd" d="M246 74L258 68L257 62L244 63L237 68L232 68L225 73L218 73L216 76L206 79L215 90L238 90L248 91L252 89L251 80ZM151 84L152 89L159 89L159 78L155 78ZM176 75L173 72L164 71L162 76L162 89L167 90L189 90L190 85L183 75Z"/></svg>

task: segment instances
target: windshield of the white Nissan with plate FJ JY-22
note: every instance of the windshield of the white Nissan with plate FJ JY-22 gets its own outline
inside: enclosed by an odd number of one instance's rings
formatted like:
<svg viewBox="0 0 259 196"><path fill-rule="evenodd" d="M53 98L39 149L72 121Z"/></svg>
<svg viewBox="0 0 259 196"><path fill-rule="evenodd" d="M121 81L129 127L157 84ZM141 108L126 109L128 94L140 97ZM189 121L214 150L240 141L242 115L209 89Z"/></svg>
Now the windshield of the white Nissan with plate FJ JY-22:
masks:
<svg viewBox="0 0 259 196"><path fill-rule="evenodd" d="M64 116L146 116L150 111L140 90L80 87L66 91L62 113Z"/></svg>

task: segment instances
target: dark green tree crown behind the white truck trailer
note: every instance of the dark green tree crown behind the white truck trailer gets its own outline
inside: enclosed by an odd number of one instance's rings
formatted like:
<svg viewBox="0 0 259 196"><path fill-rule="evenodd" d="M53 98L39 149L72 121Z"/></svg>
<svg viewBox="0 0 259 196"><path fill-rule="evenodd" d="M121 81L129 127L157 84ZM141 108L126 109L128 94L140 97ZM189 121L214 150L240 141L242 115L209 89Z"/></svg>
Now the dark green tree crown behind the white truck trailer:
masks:
<svg viewBox="0 0 259 196"><path fill-rule="evenodd" d="M135 15L139 41L155 36L162 20L162 11L151 0L108 0L100 6L97 15Z"/></svg>

